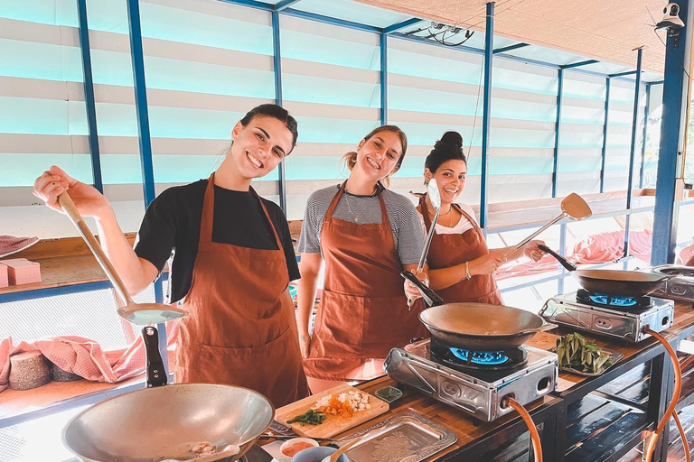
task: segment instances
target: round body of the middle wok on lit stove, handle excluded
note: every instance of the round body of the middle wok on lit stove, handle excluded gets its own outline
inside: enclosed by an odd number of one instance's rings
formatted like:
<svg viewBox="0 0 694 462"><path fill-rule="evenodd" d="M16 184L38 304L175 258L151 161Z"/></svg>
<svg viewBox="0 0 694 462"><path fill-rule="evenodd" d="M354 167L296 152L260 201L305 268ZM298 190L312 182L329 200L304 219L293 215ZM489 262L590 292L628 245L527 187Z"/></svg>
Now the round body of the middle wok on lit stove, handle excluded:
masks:
<svg viewBox="0 0 694 462"><path fill-rule="evenodd" d="M502 351L556 328L535 313L491 303L447 303L419 313L431 335L451 347Z"/></svg>

